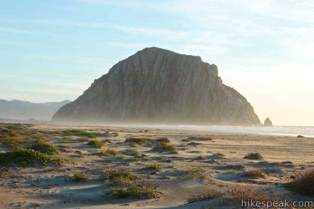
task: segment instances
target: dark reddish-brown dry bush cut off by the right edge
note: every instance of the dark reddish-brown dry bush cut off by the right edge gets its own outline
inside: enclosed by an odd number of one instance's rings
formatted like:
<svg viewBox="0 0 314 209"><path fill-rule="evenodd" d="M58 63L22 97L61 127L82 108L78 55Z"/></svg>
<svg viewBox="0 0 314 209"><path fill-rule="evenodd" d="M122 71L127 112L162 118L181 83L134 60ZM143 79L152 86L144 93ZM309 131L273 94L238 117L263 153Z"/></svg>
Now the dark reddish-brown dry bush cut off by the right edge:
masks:
<svg viewBox="0 0 314 209"><path fill-rule="evenodd" d="M287 186L296 192L314 195L314 169L301 171Z"/></svg>

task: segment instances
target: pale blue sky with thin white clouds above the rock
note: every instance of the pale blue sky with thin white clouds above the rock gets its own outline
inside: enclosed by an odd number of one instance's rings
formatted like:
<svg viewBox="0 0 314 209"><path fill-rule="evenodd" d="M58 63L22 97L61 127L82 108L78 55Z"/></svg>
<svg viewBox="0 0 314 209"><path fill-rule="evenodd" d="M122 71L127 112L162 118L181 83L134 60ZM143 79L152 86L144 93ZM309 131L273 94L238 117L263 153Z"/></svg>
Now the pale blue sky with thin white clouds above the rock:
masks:
<svg viewBox="0 0 314 209"><path fill-rule="evenodd" d="M2 0L0 99L73 101L151 46L215 63L262 122L314 126L313 0Z"/></svg>

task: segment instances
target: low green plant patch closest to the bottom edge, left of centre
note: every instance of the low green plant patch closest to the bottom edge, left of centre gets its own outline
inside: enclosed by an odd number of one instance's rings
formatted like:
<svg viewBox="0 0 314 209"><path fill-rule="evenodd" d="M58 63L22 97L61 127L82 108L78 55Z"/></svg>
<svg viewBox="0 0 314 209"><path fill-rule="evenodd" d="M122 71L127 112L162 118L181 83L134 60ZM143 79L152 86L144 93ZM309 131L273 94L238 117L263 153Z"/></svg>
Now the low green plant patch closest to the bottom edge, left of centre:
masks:
<svg viewBox="0 0 314 209"><path fill-rule="evenodd" d="M127 185L121 188L113 188L108 193L112 196L117 196L120 198L127 198L127 197L156 197L156 192L144 185Z"/></svg>

